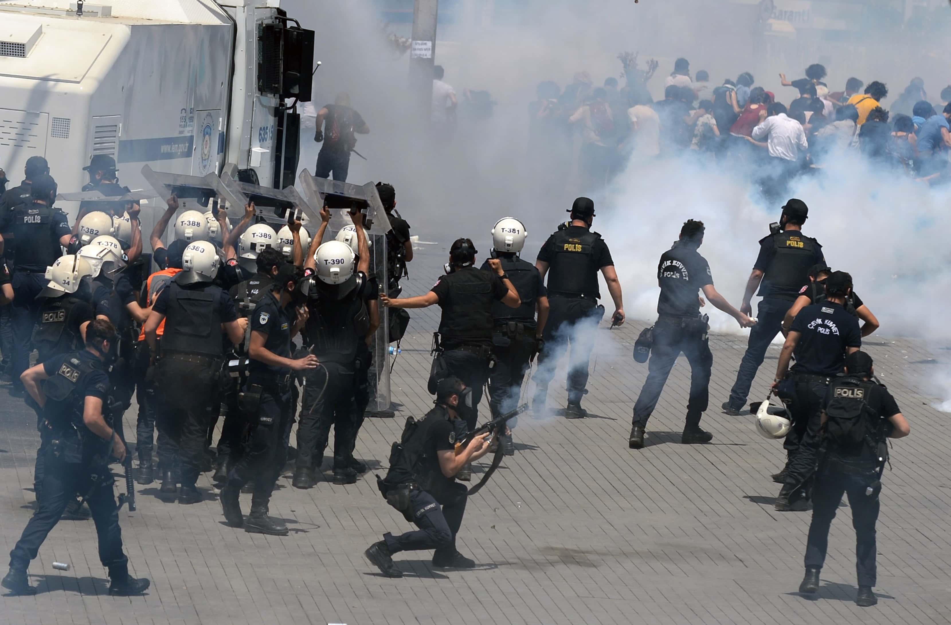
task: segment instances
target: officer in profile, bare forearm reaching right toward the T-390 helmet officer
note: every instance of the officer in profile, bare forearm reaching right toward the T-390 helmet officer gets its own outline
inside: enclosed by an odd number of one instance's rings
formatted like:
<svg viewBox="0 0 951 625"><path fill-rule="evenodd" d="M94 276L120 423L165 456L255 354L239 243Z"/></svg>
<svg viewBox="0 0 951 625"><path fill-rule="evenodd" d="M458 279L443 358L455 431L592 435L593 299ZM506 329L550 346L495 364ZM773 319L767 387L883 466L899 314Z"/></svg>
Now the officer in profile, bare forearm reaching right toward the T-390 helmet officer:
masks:
<svg viewBox="0 0 951 625"><path fill-rule="evenodd" d="M307 321L303 305L307 295L301 288L303 269L282 264L267 295L251 316L248 346L248 379L239 398L249 431L242 458L228 472L221 492L224 519L231 527L244 527L252 534L287 536L287 525L268 516L274 484L286 459L284 432L291 418L291 372L318 366L308 354L291 358L291 339ZM252 481L251 514L243 518L239 500L244 484Z"/></svg>

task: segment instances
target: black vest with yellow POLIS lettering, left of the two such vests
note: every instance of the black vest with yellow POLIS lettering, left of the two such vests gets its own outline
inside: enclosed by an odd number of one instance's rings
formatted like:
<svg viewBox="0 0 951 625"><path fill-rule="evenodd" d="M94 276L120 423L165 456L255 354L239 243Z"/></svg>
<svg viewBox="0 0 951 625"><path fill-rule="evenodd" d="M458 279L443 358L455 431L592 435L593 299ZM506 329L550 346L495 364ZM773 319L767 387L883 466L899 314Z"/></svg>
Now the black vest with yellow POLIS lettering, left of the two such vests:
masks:
<svg viewBox="0 0 951 625"><path fill-rule="evenodd" d="M553 235L554 258L548 270L549 294L600 298L601 294L597 290L599 267L594 266L594 244L601 235L588 231L575 236L571 230L559 228Z"/></svg>

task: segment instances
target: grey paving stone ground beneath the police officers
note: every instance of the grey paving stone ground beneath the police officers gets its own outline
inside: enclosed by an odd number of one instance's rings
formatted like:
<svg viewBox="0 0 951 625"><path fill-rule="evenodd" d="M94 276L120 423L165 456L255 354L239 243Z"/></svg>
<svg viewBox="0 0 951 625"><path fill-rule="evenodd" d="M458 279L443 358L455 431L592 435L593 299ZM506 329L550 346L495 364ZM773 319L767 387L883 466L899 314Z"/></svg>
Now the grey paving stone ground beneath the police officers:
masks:
<svg viewBox="0 0 951 625"><path fill-rule="evenodd" d="M442 255L419 254L407 294L435 282ZM425 382L437 314L413 312L393 373L397 419L367 420L360 434L357 455L375 473L385 472L405 417L432 405ZM883 479L881 600L860 609L847 505L832 526L822 589L816 598L799 596L810 515L773 510L779 485L768 476L782 466L782 447L757 436L751 416L716 408L728 396L743 337L711 337L711 409L703 421L711 444L679 444L689 389L681 358L650 421L648 446L627 448L631 406L647 375L630 356L644 323L613 331L602 324L586 399L592 418L520 419L516 455L468 503L458 547L476 559L476 570L434 570L431 553L418 552L398 555L402 579L380 576L363 550L410 526L379 497L373 472L349 486L325 476L308 491L283 477L271 511L287 521L288 537L226 527L218 491L204 475L202 503L162 502L156 483L137 486L139 510L120 514L130 565L152 580L147 596L107 596L92 522L62 521L29 569L39 594L0 597L0 622L951 622L951 435L947 415L931 406L938 398L925 390L936 363L951 358L946 349L889 338L887 328L866 342L912 435L895 442ZM765 393L777 354L776 346L767 354L754 393ZM562 372L552 384L551 408L564 405L563 380ZM38 440L22 400L0 394L0 543L9 551L31 514ZM135 411L126 413L130 436ZM243 506L246 512L249 496ZM53 561L72 568L54 570Z"/></svg>

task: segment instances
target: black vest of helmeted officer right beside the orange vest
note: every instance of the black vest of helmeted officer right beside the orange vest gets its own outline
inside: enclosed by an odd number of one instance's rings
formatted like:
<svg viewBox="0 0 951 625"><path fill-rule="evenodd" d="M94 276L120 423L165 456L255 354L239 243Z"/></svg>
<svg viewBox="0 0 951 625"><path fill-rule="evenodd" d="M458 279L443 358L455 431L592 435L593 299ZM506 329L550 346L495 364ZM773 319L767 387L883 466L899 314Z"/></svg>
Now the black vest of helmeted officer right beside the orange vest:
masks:
<svg viewBox="0 0 951 625"><path fill-rule="evenodd" d="M211 283L183 288L177 281L172 281L167 288L163 353L222 357L222 315L218 306L221 289Z"/></svg>

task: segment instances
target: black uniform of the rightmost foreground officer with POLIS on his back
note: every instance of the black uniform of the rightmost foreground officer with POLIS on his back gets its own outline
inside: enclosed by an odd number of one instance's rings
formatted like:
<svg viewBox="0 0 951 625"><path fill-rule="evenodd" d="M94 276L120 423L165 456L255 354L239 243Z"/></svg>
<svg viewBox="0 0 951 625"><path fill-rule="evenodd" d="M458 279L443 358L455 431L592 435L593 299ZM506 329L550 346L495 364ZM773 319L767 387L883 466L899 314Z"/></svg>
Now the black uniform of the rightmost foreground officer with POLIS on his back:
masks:
<svg viewBox="0 0 951 625"><path fill-rule="evenodd" d="M831 419L826 421L825 449L812 491L805 566L821 569L825 563L829 526L844 493L855 527L859 586L875 586L875 523L879 518L880 478L888 458L885 438L891 426L886 420L902 411L883 385L854 376L829 384L823 410L826 414L858 415L858 422L852 427L864 430L865 436L859 444L844 444L838 437L830 436L836 427Z"/></svg>

